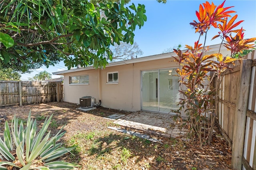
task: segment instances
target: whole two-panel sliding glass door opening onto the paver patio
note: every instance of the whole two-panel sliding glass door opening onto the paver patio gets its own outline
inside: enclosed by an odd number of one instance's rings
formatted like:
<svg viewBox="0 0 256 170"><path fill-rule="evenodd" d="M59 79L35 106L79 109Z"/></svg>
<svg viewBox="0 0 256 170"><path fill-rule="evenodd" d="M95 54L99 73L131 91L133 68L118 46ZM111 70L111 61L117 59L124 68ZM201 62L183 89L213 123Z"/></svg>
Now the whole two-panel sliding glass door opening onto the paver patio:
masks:
<svg viewBox="0 0 256 170"><path fill-rule="evenodd" d="M168 113L179 101L175 69L142 71L142 110Z"/></svg>

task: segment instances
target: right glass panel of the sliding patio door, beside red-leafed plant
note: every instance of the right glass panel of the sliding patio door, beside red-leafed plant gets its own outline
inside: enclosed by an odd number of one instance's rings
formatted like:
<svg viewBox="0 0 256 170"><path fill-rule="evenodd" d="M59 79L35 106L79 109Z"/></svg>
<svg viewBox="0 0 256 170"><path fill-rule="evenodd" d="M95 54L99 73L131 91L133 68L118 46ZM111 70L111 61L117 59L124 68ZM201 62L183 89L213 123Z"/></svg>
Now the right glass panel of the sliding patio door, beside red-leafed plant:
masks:
<svg viewBox="0 0 256 170"><path fill-rule="evenodd" d="M179 102L179 77L175 68L159 70L159 111L170 112L178 108Z"/></svg>

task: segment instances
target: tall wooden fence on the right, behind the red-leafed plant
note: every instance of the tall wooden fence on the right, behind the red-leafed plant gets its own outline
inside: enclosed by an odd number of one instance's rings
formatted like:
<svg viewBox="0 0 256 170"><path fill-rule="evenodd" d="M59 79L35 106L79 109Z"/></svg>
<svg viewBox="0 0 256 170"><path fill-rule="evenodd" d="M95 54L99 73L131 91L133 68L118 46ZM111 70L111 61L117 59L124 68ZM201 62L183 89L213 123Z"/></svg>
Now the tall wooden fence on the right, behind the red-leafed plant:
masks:
<svg viewBox="0 0 256 170"><path fill-rule="evenodd" d="M256 52L236 61L220 85L218 121L232 148L232 169L256 170Z"/></svg>

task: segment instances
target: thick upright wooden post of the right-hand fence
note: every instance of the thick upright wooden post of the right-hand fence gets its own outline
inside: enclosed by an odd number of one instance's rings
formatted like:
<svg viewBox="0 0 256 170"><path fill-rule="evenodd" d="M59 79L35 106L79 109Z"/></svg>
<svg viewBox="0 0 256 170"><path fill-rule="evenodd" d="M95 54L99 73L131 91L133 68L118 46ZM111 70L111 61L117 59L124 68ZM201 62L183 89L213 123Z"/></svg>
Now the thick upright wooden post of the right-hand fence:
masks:
<svg viewBox="0 0 256 170"><path fill-rule="evenodd" d="M248 95L250 90L250 80L252 73L252 60L241 61L239 90L237 93L236 113L234 122L234 136L232 145L231 165L233 170L242 169L242 158L244 150L244 133L246 124L246 110L248 105Z"/></svg>

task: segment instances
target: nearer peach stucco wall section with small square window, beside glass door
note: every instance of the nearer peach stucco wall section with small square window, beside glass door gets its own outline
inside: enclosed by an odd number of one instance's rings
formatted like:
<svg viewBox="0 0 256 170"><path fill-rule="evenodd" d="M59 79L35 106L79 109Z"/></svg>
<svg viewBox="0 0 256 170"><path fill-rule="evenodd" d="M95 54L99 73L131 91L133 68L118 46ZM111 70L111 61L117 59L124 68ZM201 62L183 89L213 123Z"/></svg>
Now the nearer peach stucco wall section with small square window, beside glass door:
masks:
<svg viewBox="0 0 256 170"><path fill-rule="evenodd" d="M101 70L102 106L119 110L141 110L141 71L176 68L173 58L123 64ZM107 73L118 71L118 84L107 83Z"/></svg>

